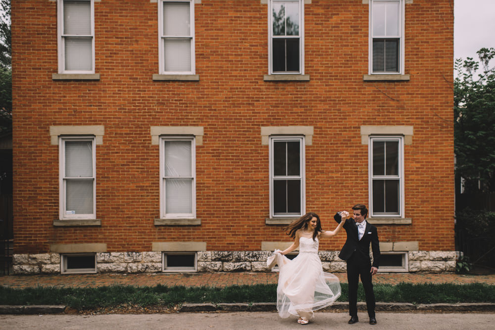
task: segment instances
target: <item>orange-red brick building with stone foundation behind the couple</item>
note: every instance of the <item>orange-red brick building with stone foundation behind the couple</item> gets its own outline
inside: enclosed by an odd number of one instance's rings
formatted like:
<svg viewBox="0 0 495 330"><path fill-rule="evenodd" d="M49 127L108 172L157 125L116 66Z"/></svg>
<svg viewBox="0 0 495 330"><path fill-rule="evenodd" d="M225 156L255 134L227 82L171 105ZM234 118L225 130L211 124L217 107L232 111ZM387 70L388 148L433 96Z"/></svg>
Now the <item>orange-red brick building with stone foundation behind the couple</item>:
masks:
<svg viewBox="0 0 495 330"><path fill-rule="evenodd" d="M455 268L453 0L12 1L12 45L16 273L266 271L355 203Z"/></svg>

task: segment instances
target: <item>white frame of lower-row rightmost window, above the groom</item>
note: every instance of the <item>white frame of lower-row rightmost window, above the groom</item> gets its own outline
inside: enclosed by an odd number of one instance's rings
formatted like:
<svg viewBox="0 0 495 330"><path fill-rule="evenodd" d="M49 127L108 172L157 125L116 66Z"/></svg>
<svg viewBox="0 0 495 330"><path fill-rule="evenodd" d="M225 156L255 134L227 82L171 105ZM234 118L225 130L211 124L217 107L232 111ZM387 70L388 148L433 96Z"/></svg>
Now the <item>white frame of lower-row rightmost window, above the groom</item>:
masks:
<svg viewBox="0 0 495 330"><path fill-rule="evenodd" d="M398 175L373 175L373 142L375 141L397 141L398 142ZM404 217L404 137L402 136L370 136L368 143L368 173L369 173L369 208L370 217L392 217L392 218L403 218ZM373 210L373 180L387 180L394 179L399 180L399 200L398 200L398 214L384 214L376 213Z"/></svg>

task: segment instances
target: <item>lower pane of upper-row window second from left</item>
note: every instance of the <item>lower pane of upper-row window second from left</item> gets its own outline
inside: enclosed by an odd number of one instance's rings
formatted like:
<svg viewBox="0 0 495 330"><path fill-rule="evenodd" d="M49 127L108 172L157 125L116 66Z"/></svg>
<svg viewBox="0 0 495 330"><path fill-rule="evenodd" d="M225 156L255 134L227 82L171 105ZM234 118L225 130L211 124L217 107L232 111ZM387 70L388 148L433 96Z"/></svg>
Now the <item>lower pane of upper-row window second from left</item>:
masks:
<svg viewBox="0 0 495 330"><path fill-rule="evenodd" d="M191 71L191 39L164 40L165 71Z"/></svg>

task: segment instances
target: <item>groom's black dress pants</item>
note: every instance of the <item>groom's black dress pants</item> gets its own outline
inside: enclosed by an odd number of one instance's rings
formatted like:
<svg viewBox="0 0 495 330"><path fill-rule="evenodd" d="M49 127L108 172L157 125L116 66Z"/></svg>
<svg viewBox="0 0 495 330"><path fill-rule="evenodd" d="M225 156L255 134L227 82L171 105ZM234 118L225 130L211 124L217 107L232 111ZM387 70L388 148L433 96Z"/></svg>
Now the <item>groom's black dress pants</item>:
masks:
<svg viewBox="0 0 495 330"><path fill-rule="evenodd" d="M359 276L364 287L366 295L366 308L368 316L375 317L375 293L373 292L373 283L371 283L372 275L371 262L362 260L356 257L354 253L347 260L347 283L349 285L349 315L357 316L357 286L359 284Z"/></svg>

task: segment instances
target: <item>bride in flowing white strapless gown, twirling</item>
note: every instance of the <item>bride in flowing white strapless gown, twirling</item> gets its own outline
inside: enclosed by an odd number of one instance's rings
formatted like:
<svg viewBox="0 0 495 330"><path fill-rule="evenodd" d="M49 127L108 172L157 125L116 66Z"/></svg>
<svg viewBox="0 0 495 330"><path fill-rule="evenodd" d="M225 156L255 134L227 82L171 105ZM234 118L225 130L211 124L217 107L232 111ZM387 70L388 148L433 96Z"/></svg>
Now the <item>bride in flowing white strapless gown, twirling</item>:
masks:
<svg viewBox="0 0 495 330"><path fill-rule="evenodd" d="M347 218L347 211L340 212ZM297 323L305 325L313 317L313 311L331 305L341 294L339 279L324 273L318 257L318 243L321 238L337 235L342 224L332 231L321 229L320 217L313 212L306 213L293 221L285 231L294 238L294 243L284 251L275 250L267 260L268 265L279 265L277 286L277 310L280 317L298 316ZM290 260L285 254L299 247L299 254Z"/></svg>

